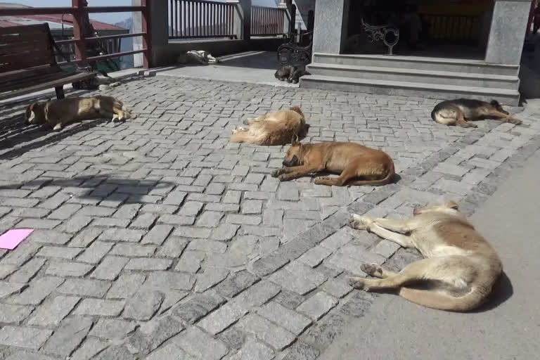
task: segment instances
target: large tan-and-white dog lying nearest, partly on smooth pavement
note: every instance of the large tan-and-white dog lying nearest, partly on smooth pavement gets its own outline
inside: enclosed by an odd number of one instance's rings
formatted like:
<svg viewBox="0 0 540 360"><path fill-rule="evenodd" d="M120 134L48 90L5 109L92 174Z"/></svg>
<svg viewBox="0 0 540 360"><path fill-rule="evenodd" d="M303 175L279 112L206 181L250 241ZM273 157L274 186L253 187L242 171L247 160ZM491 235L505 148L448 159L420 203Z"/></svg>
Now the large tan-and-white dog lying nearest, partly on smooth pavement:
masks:
<svg viewBox="0 0 540 360"><path fill-rule="evenodd" d="M357 289L396 289L411 302L449 311L468 311L482 304L503 271L499 255L449 201L415 209L409 220L372 219L352 214L354 229L364 229L406 248L418 249L425 259L409 264L399 273L377 264L364 264L362 271L380 278L351 278ZM436 288L409 288L429 283Z"/></svg>

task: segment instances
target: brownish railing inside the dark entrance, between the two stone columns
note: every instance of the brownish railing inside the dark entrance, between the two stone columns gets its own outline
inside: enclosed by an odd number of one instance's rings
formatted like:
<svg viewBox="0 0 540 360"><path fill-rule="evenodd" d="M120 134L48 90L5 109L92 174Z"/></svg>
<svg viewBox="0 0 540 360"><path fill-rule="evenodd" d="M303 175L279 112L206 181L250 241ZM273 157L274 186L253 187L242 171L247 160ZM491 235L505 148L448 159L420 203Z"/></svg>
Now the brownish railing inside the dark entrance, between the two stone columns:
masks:
<svg viewBox="0 0 540 360"><path fill-rule="evenodd" d="M430 39L458 42L477 41L480 34L480 18L477 16L423 14L430 24Z"/></svg>

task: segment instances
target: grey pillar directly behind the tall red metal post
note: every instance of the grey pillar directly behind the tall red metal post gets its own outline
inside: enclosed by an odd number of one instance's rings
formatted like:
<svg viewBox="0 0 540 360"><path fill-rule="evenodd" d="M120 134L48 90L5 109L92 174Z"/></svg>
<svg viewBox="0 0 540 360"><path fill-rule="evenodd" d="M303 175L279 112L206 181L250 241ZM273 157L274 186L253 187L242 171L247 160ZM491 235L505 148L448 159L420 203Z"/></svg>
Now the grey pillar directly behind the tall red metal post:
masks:
<svg viewBox="0 0 540 360"><path fill-rule="evenodd" d="M163 49L169 43L169 21L167 14L169 11L168 1L148 1L148 6L150 6L150 26L152 27L152 63L154 66L159 66L160 61L158 59L158 51ZM141 0L131 0L131 5L140 6ZM142 32L142 17L141 12L137 11L133 13L133 32ZM142 37L134 37L133 39L133 49L140 50L143 49L143 39ZM143 66L143 55L141 53L136 53L134 55L134 66L139 67Z"/></svg>

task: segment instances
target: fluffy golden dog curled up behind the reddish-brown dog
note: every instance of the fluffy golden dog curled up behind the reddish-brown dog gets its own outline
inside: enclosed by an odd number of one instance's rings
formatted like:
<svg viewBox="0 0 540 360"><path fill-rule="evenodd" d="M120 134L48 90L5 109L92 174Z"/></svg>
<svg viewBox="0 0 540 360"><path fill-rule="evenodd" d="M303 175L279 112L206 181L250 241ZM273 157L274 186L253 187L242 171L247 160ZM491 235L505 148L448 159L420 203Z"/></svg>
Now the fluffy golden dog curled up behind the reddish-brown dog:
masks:
<svg viewBox="0 0 540 360"><path fill-rule="evenodd" d="M257 145L285 145L299 134L304 134L309 125L302 110L293 106L290 110L279 110L246 120L247 129L240 127L233 130L233 143L255 143Z"/></svg>

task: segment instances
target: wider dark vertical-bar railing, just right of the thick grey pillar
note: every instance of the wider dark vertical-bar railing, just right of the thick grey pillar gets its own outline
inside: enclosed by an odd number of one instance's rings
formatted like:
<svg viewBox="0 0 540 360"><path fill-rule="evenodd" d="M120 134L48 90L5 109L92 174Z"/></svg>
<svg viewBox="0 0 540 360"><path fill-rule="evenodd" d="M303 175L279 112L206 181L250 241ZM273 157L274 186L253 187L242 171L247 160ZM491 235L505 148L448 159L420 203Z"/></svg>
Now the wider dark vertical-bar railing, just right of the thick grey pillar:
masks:
<svg viewBox="0 0 540 360"><path fill-rule="evenodd" d="M236 4L207 0L169 0L169 39L235 37Z"/></svg>

